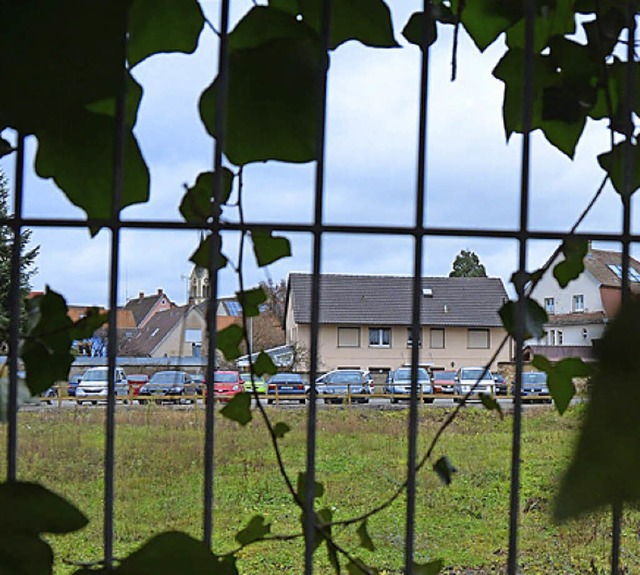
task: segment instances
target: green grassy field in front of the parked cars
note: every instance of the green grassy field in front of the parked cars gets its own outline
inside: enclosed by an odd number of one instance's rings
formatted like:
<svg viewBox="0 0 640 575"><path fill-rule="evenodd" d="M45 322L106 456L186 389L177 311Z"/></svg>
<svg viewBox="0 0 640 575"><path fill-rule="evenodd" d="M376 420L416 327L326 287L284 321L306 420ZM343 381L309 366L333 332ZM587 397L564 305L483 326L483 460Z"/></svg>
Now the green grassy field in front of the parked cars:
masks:
<svg viewBox="0 0 640 575"><path fill-rule="evenodd" d="M282 441L291 476L305 461L305 411L270 409L274 421L291 432ZM446 411L421 411L421 447L433 437ZM610 546L610 518L594 515L555 525L549 515L554 486L570 457L581 409L564 417L551 408L527 411L524 419L521 497L522 572L604 573ZM394 491L405 473L407 411L321 409L318 421L318 480L326 491L321 504L335 519L369 509ZM102 458L104 412L101 409L47 409L20 415L19 478L36 480L68 497L91 519L84 530L55 537L56 574L70 573L65 561L101 556ZM164 530L199 537L204 411L198 407L120 408L117 415L116 540L117 556L134 550ZM417 560L442 558L451 573L496 573L508 548L509 416L500 420L481 409L464 411L445 434L438 456L458 468L445 487L431 470L418 478ZM4 436L5 429L0 428ZM2 437L0 451L5 449ZM4 453L2 465L4 466ZM258 421L241 428L222 417L216 421L215 550L235 547L235 533L262 514L275 533L299 530L299 511L278 476L267 435ZM400 573L403 560L404 503L369 522L375 552L359 549L355 528L338 531L338 540L365 561ZM624 522L623 564L640 568L640 515ZM317 572L329 573L323 550ZM302 544L261 543L242 552L242 573L302 572ZM602 569L602 571L601 571Z"/></svg>

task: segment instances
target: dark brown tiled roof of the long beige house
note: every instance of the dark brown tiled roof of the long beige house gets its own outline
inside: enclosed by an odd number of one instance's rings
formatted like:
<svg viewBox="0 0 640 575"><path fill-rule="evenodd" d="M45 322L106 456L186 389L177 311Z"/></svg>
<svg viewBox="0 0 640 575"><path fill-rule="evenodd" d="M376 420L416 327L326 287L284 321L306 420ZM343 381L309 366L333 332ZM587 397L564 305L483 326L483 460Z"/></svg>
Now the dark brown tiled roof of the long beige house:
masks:
<svg viewBox="0 0 640 575"><path fill-rule="evenodd" d="M500 327L498 310L508 299L500 278L424 277L423 325ZM324 274L320 279L320 323L410 325L411 276ZM311 322L311 274L289 275L295 321Z"/></svg>

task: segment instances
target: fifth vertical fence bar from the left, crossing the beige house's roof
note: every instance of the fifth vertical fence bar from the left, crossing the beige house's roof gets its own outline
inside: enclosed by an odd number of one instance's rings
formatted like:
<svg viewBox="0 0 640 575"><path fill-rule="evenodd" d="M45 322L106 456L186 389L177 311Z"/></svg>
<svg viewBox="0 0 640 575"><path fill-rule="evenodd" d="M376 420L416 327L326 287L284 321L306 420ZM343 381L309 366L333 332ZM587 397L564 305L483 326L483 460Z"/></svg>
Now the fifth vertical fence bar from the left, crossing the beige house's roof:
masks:
<svg viewBox="0 0 640 575"><path fill-rule="evenodd" d="M418 157L416 183L415 246L413 261L413 301L411 306L411 398L409 403L408 453L407 453L407 508L405 524L405 572L414 573L415 522L416 522L416 462L418 457L418 363L420 355L420 326L422 304L422 258L424 242L424 212L427 174L427 104L429 97L429 30L431 26L431 2L424 0L422 30L422 58L420 70L420 117L418 129Z"/></svg>

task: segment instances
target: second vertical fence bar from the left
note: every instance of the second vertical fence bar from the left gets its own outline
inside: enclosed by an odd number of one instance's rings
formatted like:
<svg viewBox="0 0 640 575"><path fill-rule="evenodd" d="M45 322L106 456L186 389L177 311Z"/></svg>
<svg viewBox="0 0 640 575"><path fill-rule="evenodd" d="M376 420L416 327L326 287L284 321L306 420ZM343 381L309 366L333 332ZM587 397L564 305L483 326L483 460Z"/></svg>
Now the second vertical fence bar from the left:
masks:
<svg viewBox="0 0 640 575"><path fill-rule="evenodd" d="M115 500L115 412L116 412L116 358L118 355L118 271L120 263L120 208L124 185L124 154L126 138L126 90L127 90L127 13L123 16L120 39L122 75L116 99L116 131L113 150L113 181L111 194L111 258L109 267L109 327L107 346L107 412L105 421L104 454L104 564L113 566L114 500Z"/></svg>

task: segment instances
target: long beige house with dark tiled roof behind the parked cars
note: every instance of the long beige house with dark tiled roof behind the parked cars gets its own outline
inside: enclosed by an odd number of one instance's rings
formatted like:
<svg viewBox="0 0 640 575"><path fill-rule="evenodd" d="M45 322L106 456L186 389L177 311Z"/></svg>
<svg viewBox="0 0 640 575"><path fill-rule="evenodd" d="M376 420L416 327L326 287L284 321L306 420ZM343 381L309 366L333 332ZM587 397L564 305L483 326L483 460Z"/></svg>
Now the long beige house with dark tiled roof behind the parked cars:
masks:
<svg viewBox="0 0 640 575"><path fill-rule="evenodd" d="M286 344L308 355L311 274L287 283ZM458 368L489 362L506 337L498 310L507 301L499 278L421 280L420 363ZM411 362L413 278L325 274L320 278L319 365L368 369L379 376ZM510 346L492 367L510 359Z"/></svg>

